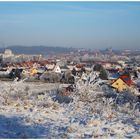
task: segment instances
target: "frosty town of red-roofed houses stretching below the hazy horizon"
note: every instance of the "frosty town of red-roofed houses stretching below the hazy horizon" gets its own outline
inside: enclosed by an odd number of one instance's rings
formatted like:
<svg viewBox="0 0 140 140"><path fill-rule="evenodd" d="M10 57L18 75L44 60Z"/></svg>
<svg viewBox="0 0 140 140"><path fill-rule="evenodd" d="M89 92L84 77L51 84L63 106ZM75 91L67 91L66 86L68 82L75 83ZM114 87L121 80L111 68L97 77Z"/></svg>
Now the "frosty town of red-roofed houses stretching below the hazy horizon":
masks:
<svg viewBox="0 0 140 140"><path fill-rule="evenodd" d="M61 53L59 51L61 49ZM41 50L41 47L40 47ZM0 78L2 80L26 79L49 83L74 84L78 80L95 82L106 80L118 92L140 91L140 51L113 51L57 48L57 52L42 54L14 54L5 49L0 54ZM91 75L95 79L91 80Z"/></svg>

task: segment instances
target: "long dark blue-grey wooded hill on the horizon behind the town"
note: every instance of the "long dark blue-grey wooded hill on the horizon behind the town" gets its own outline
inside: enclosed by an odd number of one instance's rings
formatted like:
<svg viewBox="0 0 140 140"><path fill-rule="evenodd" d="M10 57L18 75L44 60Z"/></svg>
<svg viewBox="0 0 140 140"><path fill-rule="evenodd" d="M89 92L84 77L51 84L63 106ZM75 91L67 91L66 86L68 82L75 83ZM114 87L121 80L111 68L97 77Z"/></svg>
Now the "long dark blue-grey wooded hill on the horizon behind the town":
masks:
<svg viewBox="0 0 140 140"><path fill-rule="evenodd" d="M0 48L0 52L3 53L5 49L11 49L14 54L42 54L47 56L48 54L61 54L74 51L74 48L66 47L48 47L48 46L8 46L6 48Z"/></svg>

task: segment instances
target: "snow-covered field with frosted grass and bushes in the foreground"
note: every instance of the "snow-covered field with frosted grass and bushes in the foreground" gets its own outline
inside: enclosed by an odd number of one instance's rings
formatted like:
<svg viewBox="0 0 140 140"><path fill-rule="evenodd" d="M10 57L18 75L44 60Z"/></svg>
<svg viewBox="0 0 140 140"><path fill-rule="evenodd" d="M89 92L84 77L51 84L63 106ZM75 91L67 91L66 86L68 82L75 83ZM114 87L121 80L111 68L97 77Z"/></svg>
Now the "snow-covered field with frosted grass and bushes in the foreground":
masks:
<svg viewBox="0 0 140 140"><path fill-rule="evenodd" d="M106 86L0 81L0 138L137 138L140 103Z"/></svg>

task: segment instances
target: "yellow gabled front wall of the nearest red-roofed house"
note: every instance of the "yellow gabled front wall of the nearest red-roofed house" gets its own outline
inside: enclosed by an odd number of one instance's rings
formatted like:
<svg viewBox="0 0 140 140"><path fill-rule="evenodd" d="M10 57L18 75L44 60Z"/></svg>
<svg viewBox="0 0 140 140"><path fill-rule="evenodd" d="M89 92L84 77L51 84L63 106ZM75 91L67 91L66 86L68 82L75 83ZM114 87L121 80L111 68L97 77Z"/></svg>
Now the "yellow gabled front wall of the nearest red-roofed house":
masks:
<svg viewBox="0 0 140 140"><path fill-rule="evenodd" d="M116 81L114 81L111 86L119 92L122 92L129 87L121 78L118 78Z"/></svg>

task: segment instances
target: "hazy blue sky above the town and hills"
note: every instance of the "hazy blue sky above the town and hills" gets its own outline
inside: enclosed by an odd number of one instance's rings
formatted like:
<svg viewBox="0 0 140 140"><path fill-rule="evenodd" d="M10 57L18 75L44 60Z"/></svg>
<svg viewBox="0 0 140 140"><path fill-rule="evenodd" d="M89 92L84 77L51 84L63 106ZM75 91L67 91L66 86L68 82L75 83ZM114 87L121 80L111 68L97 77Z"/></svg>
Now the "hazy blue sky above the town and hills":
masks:
<svg viewBox="0 0 140 140"><path fill-rule="evenodd" d="M0 46L139 48L140 2L0 2Z"/></svg>

